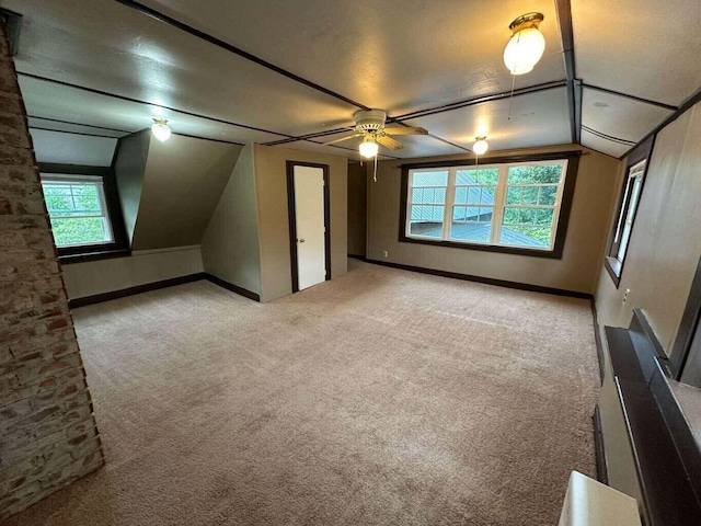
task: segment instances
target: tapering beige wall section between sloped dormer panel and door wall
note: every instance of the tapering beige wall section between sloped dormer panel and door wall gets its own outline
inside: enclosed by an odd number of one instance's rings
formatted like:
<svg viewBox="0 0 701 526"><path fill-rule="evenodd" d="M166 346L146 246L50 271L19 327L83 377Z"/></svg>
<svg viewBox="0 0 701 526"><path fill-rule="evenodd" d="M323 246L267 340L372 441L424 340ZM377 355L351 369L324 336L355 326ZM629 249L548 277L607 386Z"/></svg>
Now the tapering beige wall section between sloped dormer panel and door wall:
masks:
<svg viewBox="0 0 701 526"><path fill-rule="evenodd" d="M261 294L261 248L253 145L241 151L202 241L205 272Z"/></svg>

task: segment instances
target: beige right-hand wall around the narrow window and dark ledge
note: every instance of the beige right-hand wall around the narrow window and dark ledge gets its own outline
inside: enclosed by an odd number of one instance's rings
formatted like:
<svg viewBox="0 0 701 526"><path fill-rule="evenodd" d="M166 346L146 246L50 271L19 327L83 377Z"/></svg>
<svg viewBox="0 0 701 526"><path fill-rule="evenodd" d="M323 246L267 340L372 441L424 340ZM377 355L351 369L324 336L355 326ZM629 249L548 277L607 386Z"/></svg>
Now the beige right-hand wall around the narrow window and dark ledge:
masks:
<svg viewBox="0 0 701 526"><path fill-rule="evenodd" d="M633 309L643 309L655 334L670 352L691 281L701 256L701 105L697 104L656 138L618 289L601 266L596 293L599 329L628 327ZM622 187L623 170L618 188ZM618 197L618 196L617 196ZM613 210L609 215L613 228ZM631 293L625 305L623 294ZM633 454L618 391L606 374L599 398L610 485L640 500Z"/></svg>

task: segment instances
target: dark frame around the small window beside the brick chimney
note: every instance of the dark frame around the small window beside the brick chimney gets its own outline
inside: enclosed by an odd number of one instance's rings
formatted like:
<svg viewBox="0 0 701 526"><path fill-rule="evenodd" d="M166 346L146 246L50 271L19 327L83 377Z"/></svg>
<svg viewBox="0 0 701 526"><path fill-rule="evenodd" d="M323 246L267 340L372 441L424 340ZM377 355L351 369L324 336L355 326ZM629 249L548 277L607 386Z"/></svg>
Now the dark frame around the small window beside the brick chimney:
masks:
<svg viewBox="0 0 701 526"><path fill-rule="evenodd" d="M62 175L66 179L69 179L71 175L77 179L81 176L102 179L104 204L113 240L106 243L76 244L70 247L57 245L56 251L58 252L58 260L61 264L129 255L129 244L124 226L122 206L119 204L117 183L112 168L39 162L38 169L42 182L45 175L49 180L57 175ZM46 207L46 199L44 201L44 206ZM50 221L48 208L46 208L46 214Z"/></svg>

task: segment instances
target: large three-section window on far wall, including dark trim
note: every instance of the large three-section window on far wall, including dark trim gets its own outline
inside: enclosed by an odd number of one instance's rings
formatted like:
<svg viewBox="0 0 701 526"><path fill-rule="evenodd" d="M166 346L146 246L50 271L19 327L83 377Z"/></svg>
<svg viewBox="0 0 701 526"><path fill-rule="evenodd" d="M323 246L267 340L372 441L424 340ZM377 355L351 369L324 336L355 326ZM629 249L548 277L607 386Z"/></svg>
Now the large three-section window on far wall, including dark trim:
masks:
<svg viewBox="0 0 701 526"><path fill-rule="evenodd" d="M561 210L565 195L571 201L576 161L404 167L400 240L559 258Z"/></svg>

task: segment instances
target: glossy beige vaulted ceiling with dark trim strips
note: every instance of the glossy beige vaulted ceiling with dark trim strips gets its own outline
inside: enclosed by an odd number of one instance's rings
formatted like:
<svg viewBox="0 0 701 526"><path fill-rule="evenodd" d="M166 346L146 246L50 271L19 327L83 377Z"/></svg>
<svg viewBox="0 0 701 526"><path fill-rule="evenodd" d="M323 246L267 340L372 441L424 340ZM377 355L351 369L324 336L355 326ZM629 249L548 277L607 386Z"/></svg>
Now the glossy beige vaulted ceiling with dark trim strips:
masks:
<svg viewBox="0 0 701 526"><path fill-rule="evenodd" d="M173 132L357 158L323 142L386 110L412 158L579 141L619 157L701 85L687 0L0 0L33 128ZM545 55L512 77L508 24L544 14ZM514 98L510 92L514 90ZM386 156L387 157L387 156Z"/></svg>

